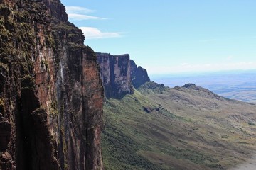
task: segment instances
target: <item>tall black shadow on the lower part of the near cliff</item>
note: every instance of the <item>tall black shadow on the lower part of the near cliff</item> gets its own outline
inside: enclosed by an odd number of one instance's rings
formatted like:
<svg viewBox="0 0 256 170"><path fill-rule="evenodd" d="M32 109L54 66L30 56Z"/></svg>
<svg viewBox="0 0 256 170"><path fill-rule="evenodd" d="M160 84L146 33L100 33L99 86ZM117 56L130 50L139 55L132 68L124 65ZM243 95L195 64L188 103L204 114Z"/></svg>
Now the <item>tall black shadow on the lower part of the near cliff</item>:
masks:
<svg viewBox="0 0 256 170"><path fill-rule="evenodd" d="M33 77L21 81L20 111L16 113L16 152L18 169L58 169L46 110L35 96ZM42 152L43 151L43 152Z"/></svg>

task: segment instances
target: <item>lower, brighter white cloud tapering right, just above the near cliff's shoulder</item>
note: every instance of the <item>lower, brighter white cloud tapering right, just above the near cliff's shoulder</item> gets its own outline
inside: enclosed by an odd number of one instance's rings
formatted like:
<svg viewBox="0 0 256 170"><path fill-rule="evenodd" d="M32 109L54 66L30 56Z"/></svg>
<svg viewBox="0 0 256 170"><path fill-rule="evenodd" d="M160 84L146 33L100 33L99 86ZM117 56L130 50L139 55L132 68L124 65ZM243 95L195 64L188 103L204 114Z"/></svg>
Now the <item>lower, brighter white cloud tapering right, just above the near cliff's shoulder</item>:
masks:
<svg viewBox="0 0 256 170"><path fill-rule="evenodd" d="M85 35L85 39L100 39L100 38L119 38L121 33L115 32L102 32L93 27L80 27Z"/></svg>

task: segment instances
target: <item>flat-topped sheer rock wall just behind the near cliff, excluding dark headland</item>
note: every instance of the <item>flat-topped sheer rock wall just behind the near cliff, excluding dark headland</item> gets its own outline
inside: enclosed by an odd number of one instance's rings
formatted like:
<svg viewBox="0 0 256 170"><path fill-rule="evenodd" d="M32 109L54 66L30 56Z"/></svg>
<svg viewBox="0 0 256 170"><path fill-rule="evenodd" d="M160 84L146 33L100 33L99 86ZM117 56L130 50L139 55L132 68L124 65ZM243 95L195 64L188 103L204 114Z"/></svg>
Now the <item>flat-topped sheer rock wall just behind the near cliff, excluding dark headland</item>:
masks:
<svg viewBox="0 0 256 170"><path fill-rule="evenodd" d="M132 94L129 55L110 55L97 52L100 76L107 98L122 98Z"/></svg>

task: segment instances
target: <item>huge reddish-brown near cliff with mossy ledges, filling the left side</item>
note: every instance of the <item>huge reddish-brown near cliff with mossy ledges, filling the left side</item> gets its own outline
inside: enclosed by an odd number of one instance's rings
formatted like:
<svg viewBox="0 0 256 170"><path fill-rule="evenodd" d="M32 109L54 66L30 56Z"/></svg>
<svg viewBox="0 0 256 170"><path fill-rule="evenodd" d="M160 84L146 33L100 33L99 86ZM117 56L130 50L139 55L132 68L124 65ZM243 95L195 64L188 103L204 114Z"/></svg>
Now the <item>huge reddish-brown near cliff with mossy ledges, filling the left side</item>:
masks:
<svg viewBox="0 0 256 170"><path fill-rule="evenodd" d="M58 0L0 1L0 169L103 169L97 57Z"/></svg>

